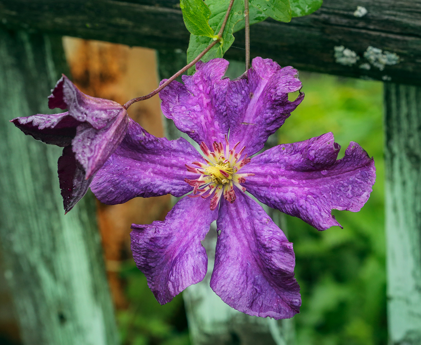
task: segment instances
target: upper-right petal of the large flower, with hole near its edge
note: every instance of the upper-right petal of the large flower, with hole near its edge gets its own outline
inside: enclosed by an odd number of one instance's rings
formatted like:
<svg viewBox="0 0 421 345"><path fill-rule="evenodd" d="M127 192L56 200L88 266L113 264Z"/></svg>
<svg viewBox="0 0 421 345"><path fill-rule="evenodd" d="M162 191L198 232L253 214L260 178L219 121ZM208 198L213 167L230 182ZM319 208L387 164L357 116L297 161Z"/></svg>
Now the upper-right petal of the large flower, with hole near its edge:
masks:
<svg viewBox="0 0 421 345"><path fill-rule="evenodd" d="M229 142L240 142L249 156L260 151L303 100L300 92L296 100L288 101L288 93L300 89L297 70L281 68L271 59L254 58L247 74L228 84Z"/></svg>

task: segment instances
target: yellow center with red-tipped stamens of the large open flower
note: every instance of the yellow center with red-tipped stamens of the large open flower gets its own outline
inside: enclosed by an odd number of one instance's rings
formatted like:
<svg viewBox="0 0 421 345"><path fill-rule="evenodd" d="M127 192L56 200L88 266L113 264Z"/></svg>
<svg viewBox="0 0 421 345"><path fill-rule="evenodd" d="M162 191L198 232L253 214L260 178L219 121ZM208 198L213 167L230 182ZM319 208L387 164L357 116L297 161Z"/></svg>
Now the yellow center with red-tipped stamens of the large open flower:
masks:
<svg viewBox="0 0 421 345"><path fill-rule="evenodd" d="M250 162L250 158L244 157L242 153L245 150L243 147L239 152L236 152L237 146L240 142L234 145L232 149L229 148L228 139L225 136L225 150L222 143L213 143L213 151L210 151L208 146L202 142L200 149L203 151L203 160L206 163L193 162L192 164L198 166L188 166L187 171L200 174L197 179L184 179L193 188L193 193L189 197L195 198L201 196L208 198L215 192L210 199L210 209L214 210L218 206L221 195L233 203L235 201L234 185L243 192L245 187L241 183L245 182L245 177L254 174L238 174L238 171ZM208 192L208 194L205 194Z"/></svg>

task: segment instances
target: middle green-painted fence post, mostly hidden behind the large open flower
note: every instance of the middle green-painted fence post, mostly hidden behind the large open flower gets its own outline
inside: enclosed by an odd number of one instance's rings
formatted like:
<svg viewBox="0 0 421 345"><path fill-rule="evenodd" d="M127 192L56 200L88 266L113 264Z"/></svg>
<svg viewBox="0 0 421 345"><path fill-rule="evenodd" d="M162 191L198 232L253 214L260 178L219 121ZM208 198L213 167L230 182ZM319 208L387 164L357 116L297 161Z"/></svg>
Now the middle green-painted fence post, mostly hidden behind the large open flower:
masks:
<svg viewBox="0 0 421 345"><path fill-rule="evenodd" d="M160 78L169 78L186 64L186 53L180 50L158 51L158 69ZM234 63L236 65L236 63ZM244 63L239 64L244 72ZM237 66L237 67L239 67ZM192 142L187 135L182 134L173 124L172 120L165 119L165 127L169 139L176 139L183 135ZM272 141L270 140L272 139ZM271 143L277 144L276 135L269 138ZM192 144L195 144L192 142ZM273 144L273 143L272 143ZM198 148L198 147L197 147ZM265 206L266 207L266 206ZM265 210L269 208L266 207ZM276 212L268 213L276 222L282 219ZM279 212L280 213L280 212ZM279 222L277 223L280 226ZM203 246L208 254L208 273L200 283L189 286L183 292L186 305L189 332L193 345L292 345L294 344L293 324L291 320L274 320L258 318L241 313L222 302L210 288L210 275L212 274L215 246L216 228L212 228L206 236Z"/></svg>

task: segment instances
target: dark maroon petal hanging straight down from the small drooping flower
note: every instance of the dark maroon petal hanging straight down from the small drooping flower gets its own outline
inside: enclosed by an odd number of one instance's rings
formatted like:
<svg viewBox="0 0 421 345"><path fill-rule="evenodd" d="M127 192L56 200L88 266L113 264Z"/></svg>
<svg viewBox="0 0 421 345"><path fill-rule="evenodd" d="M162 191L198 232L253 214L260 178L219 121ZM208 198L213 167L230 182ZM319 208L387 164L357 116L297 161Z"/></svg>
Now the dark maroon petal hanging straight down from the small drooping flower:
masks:
<svg viewBox="0 0 421 345"><path fill-rule="evenodd" d="M85 171L76 160L71 146L63 149L58 161L58 173L63 206L67 213L88 191L92 177L85 179Z"/></svg>

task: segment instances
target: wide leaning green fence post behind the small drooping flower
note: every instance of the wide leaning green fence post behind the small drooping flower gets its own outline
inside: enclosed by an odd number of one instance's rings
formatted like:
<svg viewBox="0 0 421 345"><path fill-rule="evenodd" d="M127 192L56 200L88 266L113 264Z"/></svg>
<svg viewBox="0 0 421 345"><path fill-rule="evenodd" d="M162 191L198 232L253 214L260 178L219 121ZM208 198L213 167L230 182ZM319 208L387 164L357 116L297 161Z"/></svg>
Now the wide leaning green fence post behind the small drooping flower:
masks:
<svg viewBox="0 0 421 345"><path fill-rule="evenodd" d="M61 37L0 27L0 242L26 345L116 345L92 195L64 215L61 149L9 120L48 111L65 66Z"/></svg>

